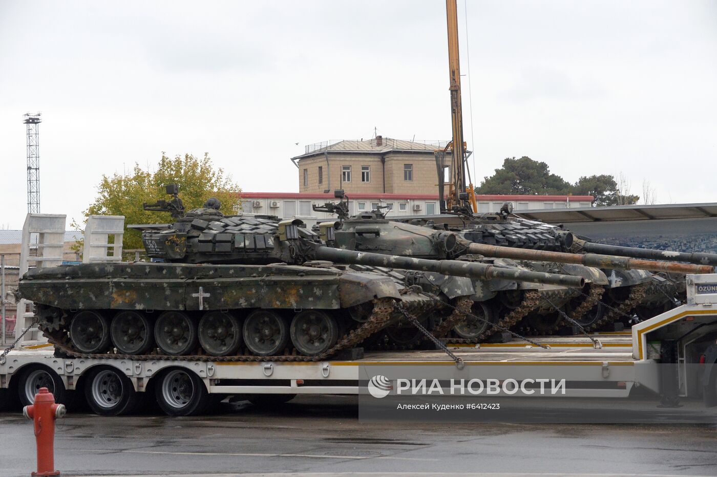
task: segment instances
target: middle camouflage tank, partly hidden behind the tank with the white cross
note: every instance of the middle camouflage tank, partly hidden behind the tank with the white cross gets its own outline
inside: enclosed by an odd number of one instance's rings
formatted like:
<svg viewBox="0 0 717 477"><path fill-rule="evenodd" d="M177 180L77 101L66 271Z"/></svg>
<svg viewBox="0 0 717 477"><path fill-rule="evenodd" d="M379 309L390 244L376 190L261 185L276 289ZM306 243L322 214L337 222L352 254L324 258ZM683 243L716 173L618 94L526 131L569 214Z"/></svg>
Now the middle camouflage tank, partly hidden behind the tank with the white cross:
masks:
<svg viewBox="0 0 717 477"><path fill-rule="evenodd" d="M342 191L336 191L337 198L344 198ZM338 249L370 251L372 253L421 257L440 260L458 258L470 263L491 264L493 266L511 266L527 273L550 275L566 274L558 271L554 264L526 262L518 264L504 258L487 258L468 249L470 242L455 231L441 231L428 226L416 226L409 223L389 221L381 208L375 211L348 215L346 202L326 203L315 206L315 211L334 213L340 219L333 224L335 231L331 246ZM331 224L330 224L331 225ZM446 246L447 240L451 245ZM520 282L511 279L474 281L475 294L470 302L462 304L463 312L453 314L451 319L435 326L435 334L455 340L483 340L497 329L509 328L525 317L538 317L554 312L555 307L564 306L570 299L579 296L581 287L576 284L607 284L607 278L597 269L580 265L566 265L565 270L574 277L574 281L532 281ZM580 280L582 279L582 280ZM470 312L469 312L470 310ZM462 315L462 316L461 316ZM557 315L557 314L556 314ZM536 319L536 321L538 321ZM453 323L450 326L450 323ZM401 323L399 322L399 325ZM497 326L496 326L497 325ZM539 332L551 332L534 326ZM391 335L393 328L386 330ZM411 336L408 333L408 336ZM417 334L414 337L419 337ZM394 336L394 342L397 340ZM402 343L403 344L403 343Z"/></svg>

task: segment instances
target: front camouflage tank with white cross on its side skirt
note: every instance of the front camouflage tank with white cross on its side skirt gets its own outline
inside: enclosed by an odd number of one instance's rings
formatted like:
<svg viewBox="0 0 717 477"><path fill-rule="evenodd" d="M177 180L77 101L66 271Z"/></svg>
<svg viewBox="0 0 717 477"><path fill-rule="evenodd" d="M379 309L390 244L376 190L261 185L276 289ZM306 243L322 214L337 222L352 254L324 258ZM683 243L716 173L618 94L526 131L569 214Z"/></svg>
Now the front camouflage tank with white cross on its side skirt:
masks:
<svg viewBox="0 0 717 477"><path fill-rule="evenodd" d="M185 213L177 192L170 187L173 200L145 204L174 217L143 231L148 256L161 263L80 264L23 276L19 296L34 302L40 329L61 352L321 360L407 314L437 314L451 299L472 296L470 279L574 281L508 266L332 249L301 221L225 217L216 199ZM429 294L385 271L338 264L436 273L452 286Z"/></svg>

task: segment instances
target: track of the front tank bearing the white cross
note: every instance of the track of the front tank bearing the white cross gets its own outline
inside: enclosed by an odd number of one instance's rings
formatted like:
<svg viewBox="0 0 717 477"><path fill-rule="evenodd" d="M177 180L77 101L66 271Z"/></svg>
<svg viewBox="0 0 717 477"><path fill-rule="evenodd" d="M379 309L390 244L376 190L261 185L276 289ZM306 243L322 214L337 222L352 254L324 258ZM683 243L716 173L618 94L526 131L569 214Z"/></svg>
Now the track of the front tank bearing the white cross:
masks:
<svg viewBox="0 0 717 477"><path fill-rule="evenodd" d="M97 360L136 360L136 361L148 361L148 360L170 360L170 361L207 361L207 362L314 362L326 360L328 357L335 355L336 352L346 350L348 348L356 346L361 343L367 337L378 332L384 328L386 324L392 319L391 314L396 312L396 304L393 299L381 298L374 300L374 309L366 319L366 321L352 329L338 339L338 342L326 352L316 356L303 356L303 355L275 355L275 356L254 356L254 355L237 355L237 356L209 356L209 355L183 355L183 356L171 356L171 355L121 355L113 353L98 353L98 354L85 354L77 352L72 347L70 337L66 333L60 332L59 330L51 330L49 327L45 327L42 319L40 320L39 327L42 329L43 334L47 337L51 344L54 344L56 350L67 355L68 357L75 358L86 358L86 359L97 359Z"/></svg>

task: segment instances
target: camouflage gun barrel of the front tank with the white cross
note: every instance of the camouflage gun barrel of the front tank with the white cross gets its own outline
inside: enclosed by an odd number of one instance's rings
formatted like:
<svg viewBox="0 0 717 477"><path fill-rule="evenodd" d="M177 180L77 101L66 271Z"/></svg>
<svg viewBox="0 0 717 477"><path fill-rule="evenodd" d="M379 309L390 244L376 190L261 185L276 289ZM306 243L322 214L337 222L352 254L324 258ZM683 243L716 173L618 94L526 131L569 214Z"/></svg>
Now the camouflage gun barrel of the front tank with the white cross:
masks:
<svg viewBox="0 0 717 477"><path fill-rule="evenodd" d="M581 276L548 274L508 266L479 264L471 261L414 259L396 255L333 249L326 246L316 247L314 252L316 259L333 261L337 264L360 264L381 266L387 269L432 271L444 275L466 276L472 279L505 279L572 287L582 287L585 284L585 280Z"/></svg>

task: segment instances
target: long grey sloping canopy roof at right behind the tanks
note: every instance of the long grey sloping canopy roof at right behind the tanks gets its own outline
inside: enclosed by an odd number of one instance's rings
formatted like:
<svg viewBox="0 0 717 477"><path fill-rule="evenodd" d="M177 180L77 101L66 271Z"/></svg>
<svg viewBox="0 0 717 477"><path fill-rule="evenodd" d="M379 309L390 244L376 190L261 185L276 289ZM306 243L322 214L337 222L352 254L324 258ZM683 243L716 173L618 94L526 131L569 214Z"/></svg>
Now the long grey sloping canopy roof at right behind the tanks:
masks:
<svg viewBox="0 0 717 477"><path fill-rule="evenodd" d="M515 211L521 218L546 223L645 221L672 218L717 217L717 203L679 203L659 206L609 206L553 208L538 211Z"/></svg>

